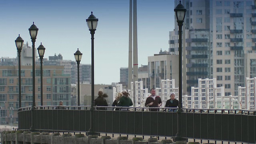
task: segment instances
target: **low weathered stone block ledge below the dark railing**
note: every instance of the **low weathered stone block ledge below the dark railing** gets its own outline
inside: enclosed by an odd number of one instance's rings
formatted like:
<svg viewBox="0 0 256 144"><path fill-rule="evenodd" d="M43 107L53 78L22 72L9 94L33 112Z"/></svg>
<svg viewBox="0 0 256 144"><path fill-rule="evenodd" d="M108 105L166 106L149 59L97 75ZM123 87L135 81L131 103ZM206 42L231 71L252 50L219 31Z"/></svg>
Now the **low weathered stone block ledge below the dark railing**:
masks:
<svg viewBox="0 0 256 144"><path fill-rule="evenodd" d="M157 138L128 139L126 136L111 138L110 136L84 134L60 134L48 132L28 132L28 131L4 131L1 133L1 144L186 144L186 141L172 142L172 140L161 140Z"/></svg>

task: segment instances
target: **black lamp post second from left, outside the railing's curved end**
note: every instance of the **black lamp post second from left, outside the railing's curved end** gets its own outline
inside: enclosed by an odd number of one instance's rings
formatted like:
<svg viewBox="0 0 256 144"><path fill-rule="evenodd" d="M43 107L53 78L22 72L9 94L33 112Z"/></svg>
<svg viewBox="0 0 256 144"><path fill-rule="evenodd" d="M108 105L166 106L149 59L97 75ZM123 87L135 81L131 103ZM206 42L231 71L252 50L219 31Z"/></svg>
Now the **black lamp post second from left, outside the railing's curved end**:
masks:
<svg viewBox="0 0 256 144"><path fill-rule="evenodd" d="M38 33L38 28L36 25L33 24L30 26L29 34L32 41L32 81L33 81L33 103L31 108L31 127L30 131L34 131L34 107L36 106L36 86L35 86L35 42L36 42L36 36Z"/></svg>

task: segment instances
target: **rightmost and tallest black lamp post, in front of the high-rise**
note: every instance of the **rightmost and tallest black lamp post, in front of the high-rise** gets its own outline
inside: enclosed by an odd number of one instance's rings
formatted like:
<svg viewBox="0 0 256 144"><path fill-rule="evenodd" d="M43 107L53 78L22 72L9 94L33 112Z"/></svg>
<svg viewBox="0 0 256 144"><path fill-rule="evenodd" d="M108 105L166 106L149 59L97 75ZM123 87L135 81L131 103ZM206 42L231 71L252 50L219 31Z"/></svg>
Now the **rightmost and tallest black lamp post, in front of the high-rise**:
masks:
<svg viewBox="0 0 256 144"><path fill-rule="evenodd" d="M182 113L182 26L186 15L186 8L181 4L178 4L174 8L176 14L178 26L179 26L179 109L178 109L178 132L174 138L176 141L185 141L186 138L182 138L181 135L181 113Z"/></svg>

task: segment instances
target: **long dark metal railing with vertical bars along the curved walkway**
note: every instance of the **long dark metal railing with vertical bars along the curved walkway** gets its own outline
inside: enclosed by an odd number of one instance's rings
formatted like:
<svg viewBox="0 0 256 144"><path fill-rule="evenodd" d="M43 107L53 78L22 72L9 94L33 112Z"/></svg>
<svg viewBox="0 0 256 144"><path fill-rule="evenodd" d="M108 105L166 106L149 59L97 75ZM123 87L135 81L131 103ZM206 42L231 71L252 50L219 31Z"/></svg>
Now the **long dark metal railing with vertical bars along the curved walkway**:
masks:
<svg viewBox="0 0 256 144"><path fill-rule="evenodd" d="M41 132L88 132L90 106L36 106L34 129ZM117 109L122 108L122 110ZM79 110L81 109L81 110ZM176 108L157 108L152 112L141 107L95 106L94 130L105 134L175 137ZM31 107L18 112L19 130L31 127ZM239 109L182 109L182 137L194 140L215 140L255 143L256 111Z"/></svg>

